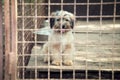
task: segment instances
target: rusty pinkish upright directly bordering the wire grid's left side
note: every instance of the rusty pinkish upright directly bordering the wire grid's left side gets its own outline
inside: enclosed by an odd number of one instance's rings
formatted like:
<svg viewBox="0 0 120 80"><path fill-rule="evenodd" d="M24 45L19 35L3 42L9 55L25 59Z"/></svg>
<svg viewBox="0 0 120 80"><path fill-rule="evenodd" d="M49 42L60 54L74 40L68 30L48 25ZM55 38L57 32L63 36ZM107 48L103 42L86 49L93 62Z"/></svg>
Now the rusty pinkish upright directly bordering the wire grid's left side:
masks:
<svg viewBox="0 0 120 80"><path fill-rule="evenodd" d="M14 61L12 63L12 74L11 74L11 80L16 80L16 64L17 64L17 0L11 0L11 52L13 52L14 55Z"/></svg>

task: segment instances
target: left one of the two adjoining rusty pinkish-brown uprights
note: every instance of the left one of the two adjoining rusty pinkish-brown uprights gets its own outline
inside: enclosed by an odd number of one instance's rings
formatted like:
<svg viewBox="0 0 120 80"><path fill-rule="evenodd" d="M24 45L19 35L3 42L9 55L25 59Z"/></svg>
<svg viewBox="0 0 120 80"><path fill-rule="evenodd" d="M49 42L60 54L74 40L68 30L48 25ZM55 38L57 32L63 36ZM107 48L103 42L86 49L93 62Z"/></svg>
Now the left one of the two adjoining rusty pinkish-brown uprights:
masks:
<svg viewBox="0 0 120 80"><path fill-rule="evenodd" d="M5 80L9 80L8 54L10 53L10 5L9 0L4 0L5 16Z"/></svg>

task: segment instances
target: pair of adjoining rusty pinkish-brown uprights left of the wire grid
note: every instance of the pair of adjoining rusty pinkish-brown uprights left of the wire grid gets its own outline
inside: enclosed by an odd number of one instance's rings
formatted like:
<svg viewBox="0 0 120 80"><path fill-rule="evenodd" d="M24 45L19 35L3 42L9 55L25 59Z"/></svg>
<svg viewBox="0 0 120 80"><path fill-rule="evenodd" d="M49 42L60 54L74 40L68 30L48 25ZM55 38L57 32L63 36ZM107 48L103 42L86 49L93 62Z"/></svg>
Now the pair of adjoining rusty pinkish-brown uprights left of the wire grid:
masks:
<svg viewBox="0 0 120 80"><path fill-rule="evenodd" d="M16 79L17 3L5 0L5 80ZM12 53L12 55L11 55ZM14 58L13 58L14 55ZM10 61L9 61L10 60ZM11 67L12 65L12 67Z"/></svg>

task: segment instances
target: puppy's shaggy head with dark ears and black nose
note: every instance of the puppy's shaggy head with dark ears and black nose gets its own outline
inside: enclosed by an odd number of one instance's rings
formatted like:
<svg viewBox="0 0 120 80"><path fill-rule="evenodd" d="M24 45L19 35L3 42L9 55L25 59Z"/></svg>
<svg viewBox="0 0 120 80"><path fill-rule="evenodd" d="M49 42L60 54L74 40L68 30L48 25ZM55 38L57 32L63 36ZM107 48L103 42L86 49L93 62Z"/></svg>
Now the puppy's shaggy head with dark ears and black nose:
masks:
<svg viewBox="0 0 120 80"><path fill-rule="evenodd" d="M50 27L58 33L66 33L74 27L74 15L67 11L56 11L51 14Z"/></svg>

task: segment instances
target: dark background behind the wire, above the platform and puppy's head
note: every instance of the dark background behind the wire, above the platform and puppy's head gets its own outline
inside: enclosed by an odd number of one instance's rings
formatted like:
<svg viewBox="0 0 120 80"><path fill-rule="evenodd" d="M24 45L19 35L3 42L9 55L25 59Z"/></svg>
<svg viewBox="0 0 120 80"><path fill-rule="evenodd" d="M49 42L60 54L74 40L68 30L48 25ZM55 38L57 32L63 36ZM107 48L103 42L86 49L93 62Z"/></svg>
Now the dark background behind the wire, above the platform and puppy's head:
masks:
<svg viewBox="0 0 120 80"><path fill-rule="evenodd" d="M51 12L62 9L61 0L50 0L50 1L51 1L50 3L53 3L53 5L50 6ZM57 3L60 3L60 5L54 5ZM63 0L63 3L74 3L74 0ZM114 0L103 0L102 5L100 4L101 0L89 0L89 3L94 3L89 5L89 9L87 8L87 0L76 0L76 3L79 3L79 5L76 5L76 6L63 5L63 10L66 10L72 13L76 11L76 16L86 16L87 13L89 16L100 16L101 6L102 6L102 16L106 16L106 15L111 16L107 18L103 17L103 19L113 19L114 11L116 11L115 13L115 15L117 16L116 19L120 19L120 17L118 17L118 15L120 16L120 0L116 0L116 5L114 5ZM76 7L76 10L74 7ZM96 19L99 19L99 18L96 18Z"/></svg>

